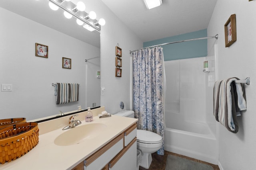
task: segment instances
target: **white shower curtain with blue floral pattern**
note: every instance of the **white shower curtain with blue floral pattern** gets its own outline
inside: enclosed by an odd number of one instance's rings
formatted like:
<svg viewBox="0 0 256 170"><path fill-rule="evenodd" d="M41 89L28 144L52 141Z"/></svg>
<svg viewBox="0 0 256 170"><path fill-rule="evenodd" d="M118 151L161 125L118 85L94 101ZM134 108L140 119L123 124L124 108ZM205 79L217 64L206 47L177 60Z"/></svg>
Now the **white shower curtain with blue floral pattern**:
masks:
<svg viewBox="0 0 256 170"><path fill-rule="evenodd" d="M133 60L133 109L138 129L162 137L157 154L164 155L164 56L162 47L138 50Z"/></svg>

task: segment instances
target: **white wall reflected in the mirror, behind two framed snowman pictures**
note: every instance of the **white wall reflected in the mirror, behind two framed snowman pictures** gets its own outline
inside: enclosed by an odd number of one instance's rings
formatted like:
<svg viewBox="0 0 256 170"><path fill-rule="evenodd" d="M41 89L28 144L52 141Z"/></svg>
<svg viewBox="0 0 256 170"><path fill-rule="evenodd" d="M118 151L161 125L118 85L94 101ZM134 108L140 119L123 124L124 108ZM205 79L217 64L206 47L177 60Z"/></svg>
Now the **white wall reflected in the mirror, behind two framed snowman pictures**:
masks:
<svg viewBox="0 0 256 170"><path fill-rule="evenodd" d="M0 84L13 85L12 92L0 91L0 119L31 120L85 109L84 59L99 56L100 49L3 8L0 23ZM35 43L48 45L48 59L35 56ZM72 69L62 68L62 57L72 59ZM56 105L56 82L79 83L79 102Z"/></svg>

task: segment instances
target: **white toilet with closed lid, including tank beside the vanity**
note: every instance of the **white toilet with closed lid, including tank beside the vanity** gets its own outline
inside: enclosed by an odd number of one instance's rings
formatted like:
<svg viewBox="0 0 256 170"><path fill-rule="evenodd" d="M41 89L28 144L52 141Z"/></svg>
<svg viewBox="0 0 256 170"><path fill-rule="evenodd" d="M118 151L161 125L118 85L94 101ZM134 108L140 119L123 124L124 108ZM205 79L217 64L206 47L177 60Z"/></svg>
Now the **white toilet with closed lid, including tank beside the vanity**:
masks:
<svg viewBox="0 0 256 170"><path fill-rule="evenodd" d="M134 118L134 111L124 110L115 115ZM140 166L148 169L152 162L151 154L159 150L162 146L162 137L154 132L137 129L137 149L142 152Z"/></svg>

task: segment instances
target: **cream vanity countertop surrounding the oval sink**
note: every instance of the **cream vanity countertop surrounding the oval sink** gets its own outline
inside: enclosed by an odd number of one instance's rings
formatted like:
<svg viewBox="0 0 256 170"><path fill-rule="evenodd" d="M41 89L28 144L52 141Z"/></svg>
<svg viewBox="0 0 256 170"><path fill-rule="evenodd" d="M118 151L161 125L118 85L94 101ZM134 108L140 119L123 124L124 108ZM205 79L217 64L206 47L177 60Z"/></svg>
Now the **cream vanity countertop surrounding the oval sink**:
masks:
<svg viewBox="0 0 256 170"><path fill-rule="evenodd" d="M74 168L74 166L125 131L130 125L136 123L137 119L112 115L111 117L100 119L98 116L94 116L94 121L92 122L85 122L85 120L81 119L80 121L82 122L81 125L104 123L107 127L102 129L101 135L94 139L70 146L55 145L54 139L61 133L75 130L76 127L68 130L62 130L63 127L61 127L60 129L44 133L39 135L39 143L34 149L16 160L0 165L0 169L65 170Z"/></svg>

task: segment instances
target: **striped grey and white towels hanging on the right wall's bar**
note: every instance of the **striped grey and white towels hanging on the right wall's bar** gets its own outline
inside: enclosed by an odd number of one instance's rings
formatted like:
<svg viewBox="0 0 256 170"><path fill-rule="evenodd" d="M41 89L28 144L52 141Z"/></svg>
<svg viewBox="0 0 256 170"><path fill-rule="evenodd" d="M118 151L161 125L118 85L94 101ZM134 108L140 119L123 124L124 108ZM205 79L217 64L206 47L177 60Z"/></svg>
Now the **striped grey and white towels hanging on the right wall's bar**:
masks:
<svg viewBox="0 0 256 170"><path fill-rule="evenodd" d="M240 83L235 83L235 80L239 79L228 78L221 82L217 81L214 85L214 114L218 117L216 120L233 133L238 132L237 115L240 115L240 111L246 110L244 87Z"/></svg>

